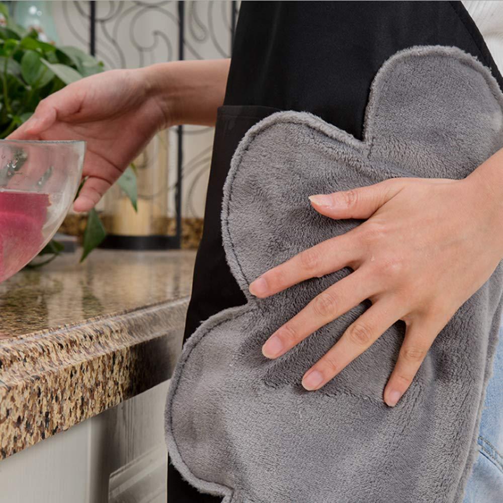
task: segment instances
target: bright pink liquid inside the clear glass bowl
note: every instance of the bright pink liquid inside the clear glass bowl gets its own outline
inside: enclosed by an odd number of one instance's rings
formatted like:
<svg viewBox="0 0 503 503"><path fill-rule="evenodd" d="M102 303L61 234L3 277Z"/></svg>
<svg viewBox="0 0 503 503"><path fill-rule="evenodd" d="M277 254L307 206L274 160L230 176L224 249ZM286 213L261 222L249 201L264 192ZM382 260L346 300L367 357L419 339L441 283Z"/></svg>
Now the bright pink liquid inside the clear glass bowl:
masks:
<svg viewBox="0 0 503 503"><path fill-rule="evenodd" d="M17 273L40 250L49 195L0 192L0 282Z"/></svg>

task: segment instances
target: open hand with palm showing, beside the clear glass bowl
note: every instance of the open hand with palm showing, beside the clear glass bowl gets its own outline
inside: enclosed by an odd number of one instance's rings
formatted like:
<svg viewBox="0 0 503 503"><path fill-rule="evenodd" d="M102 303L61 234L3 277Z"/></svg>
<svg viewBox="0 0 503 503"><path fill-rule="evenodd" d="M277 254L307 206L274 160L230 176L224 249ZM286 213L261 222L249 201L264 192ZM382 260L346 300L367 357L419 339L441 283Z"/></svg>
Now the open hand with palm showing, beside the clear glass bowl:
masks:
<svg viewBox="0 0 503 503"><path fill-rule="evenodd" d="M110 70L73 82L42 100L9 139L85 140L85 184L75 211L88 211L152 136L172 125L143 69Z"/></svg>

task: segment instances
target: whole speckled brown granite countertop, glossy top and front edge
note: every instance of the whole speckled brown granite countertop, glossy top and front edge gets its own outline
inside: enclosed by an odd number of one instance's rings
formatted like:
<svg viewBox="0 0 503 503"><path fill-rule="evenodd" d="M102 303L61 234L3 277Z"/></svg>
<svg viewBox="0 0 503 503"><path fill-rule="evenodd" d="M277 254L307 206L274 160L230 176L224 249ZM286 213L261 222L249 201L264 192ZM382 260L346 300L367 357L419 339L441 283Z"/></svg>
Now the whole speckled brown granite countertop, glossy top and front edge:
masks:
<svg viewBox="0 0 503 503"><path fill-rule="evenodd" d="M0 459L169 379L195 253L95 250L0 284Z"/></svg>

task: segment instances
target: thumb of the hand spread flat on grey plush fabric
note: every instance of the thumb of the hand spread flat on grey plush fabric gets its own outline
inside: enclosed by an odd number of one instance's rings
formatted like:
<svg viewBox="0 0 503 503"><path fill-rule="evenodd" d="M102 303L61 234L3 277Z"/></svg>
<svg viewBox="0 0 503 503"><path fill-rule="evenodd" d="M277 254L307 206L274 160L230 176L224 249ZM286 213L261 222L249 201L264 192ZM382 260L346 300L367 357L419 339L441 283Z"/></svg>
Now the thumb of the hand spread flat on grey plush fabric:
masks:
<svg viewBox="0 0 503 503"><path fill-rule="evenodd" d="M384 203L400 192L399 179L332 194L309 196L313 208L330 218L370 218Z"/></svg>

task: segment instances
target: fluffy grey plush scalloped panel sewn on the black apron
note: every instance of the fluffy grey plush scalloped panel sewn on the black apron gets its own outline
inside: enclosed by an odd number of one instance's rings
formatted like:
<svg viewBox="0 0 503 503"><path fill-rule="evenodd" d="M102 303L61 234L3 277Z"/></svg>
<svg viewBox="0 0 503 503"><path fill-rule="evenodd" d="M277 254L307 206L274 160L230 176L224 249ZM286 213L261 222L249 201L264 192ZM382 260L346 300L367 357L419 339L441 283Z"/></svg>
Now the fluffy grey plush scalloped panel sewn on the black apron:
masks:
<svg viewBox="0 0 503 503"><path fill-rule="evenodd" d="M497 341L501 263L439 334L394 408L383 390L401 321L320 390L300 384L368 301L276 361L261 354L276 328L351 272L268 299L248 293L261 273L362 222L323 217L307 197L394 177L466 177L503 146L503 94L461 49L411 47L376 74L364 131L359 141L313 115L280 112L251 128L233 156L222 232L247 304L191 336L166 404L175 466L224 503L462 500Z"/></svg>

